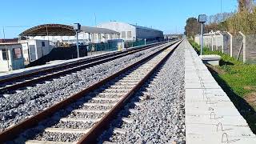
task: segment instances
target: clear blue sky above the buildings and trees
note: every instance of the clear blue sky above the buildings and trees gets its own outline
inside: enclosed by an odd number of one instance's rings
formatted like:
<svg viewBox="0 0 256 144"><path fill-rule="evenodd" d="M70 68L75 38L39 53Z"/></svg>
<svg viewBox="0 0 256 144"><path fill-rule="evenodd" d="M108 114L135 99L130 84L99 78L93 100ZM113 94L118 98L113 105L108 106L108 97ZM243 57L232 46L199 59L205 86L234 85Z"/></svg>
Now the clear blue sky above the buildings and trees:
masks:
<svg viewBox="0 0 256 144"><path fill-rule="evenodd" d="M237 0L222 0L222 12L237 9ZM0 38L6 38L44 23L84 26L110 20L152 26L165 34L183 33L186 18L221 12L221 0L8 0L1 2Z"/></svg>

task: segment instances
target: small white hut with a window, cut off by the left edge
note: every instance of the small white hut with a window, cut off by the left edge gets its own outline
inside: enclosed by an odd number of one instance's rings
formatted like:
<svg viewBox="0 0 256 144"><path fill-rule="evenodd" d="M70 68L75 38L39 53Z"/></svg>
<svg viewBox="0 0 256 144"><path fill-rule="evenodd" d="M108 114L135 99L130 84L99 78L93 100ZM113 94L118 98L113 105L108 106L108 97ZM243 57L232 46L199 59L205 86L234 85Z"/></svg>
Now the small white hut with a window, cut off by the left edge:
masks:
<svg viewBox="0 0 256 144"><path fill-rule="evenodd" d="M24 67L22 44L0 43L0 71L18 70Z"/></svg>

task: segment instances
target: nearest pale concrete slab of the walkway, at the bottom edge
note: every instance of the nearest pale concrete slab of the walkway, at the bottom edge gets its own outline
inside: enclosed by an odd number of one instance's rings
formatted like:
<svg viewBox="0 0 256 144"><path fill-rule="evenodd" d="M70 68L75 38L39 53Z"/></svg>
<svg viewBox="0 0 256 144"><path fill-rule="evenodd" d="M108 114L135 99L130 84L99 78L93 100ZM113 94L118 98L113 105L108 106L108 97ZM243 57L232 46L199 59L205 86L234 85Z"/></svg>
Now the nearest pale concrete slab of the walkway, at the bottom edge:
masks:
<svg viewBox="0 0 256 144"><path fill-rule="evenodd" d="M193 126L193 127L190 127ZM191 124L186 133L186 143L232 143L232 144L254 144L255 136L251 133L247 126L225 126L225 125L202 125L202 124ZM221 128L222 127L222 128ZM207 133L202 131L206 130Z"/></svg>

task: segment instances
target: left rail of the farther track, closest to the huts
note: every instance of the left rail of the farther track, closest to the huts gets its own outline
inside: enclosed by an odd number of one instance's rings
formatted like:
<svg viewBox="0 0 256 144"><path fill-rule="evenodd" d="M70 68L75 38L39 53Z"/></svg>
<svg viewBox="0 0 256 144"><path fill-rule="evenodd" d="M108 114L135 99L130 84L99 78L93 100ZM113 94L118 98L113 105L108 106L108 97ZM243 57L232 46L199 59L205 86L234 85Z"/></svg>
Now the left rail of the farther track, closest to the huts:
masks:
<svg viewBox="0 0 256 144"><path fill-rule="evenodd" d="M98 56L94 56L92 58L85 58L85 59L82 59L82 60L78 60L78 62L69 62L67 64L61 64L59 66L54 66L54 67L46 68L44 70L36 70L36 71L28 73L28 74L19 74L18 76L14 76L14 77L10 77L10 78L2 78L2 79L0 79L0 84L6 83L6 82L13 82L13 81L15 81L17 79L29 78L29 77L32 77L34 75L48 73L50 71L63 69L63 68L69 67L69 66L73 67L74 65L81 65L84 62L86 62L86 63L87 62L93 62L93 61L97 61L97 60L102 59L102 58L108 58L108 57L112 57L112 56L115 56L115 55L118 55L118 54L129 53L132 50L146 50L147 48L151 48L153 46L160 46L160 45L162 45L164 43L166 43L166 42L158 42L158 43L153 43L153 44L146 45L146 46L137 46L137 47L130 48L128 50L123 50L123 51L120 51L120 52L114 52L114 53L111 53L111 54L98 55Z"/></svg>

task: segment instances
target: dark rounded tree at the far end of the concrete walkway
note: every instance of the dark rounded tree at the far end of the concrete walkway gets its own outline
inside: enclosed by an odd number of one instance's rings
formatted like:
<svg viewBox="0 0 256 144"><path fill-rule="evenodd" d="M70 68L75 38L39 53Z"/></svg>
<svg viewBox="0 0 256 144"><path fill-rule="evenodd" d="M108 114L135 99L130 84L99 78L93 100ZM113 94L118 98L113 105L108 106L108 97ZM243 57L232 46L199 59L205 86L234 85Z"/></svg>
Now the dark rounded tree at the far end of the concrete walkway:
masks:
<svg viewBox="0 0 256 144"><path fill-rule="evenodd" d="M185 32L188 38L193 37L200 33L200 24L197 18L188 18L186 20Z"/></svg>

